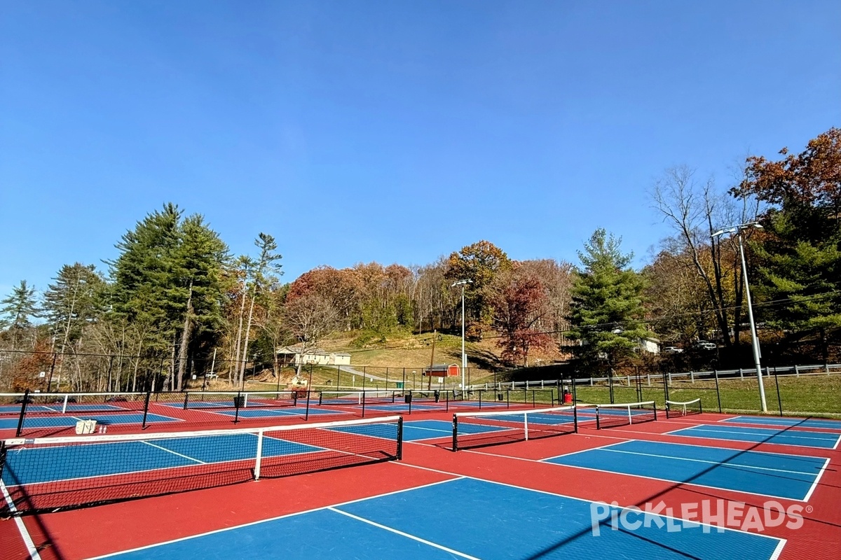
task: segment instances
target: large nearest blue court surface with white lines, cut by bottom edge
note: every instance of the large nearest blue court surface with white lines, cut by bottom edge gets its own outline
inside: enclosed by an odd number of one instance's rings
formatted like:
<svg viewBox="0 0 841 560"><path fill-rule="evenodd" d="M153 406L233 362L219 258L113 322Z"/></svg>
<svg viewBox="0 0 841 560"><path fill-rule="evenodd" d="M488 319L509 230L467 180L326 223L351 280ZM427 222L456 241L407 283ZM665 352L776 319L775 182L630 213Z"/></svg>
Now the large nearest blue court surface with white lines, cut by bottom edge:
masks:
<svg viewBox="0 0 841 560"><path fill-rule="evenodd" d="M598 515L594 522L594 508L608 516L612 510L632 528L613 531L610 520L600 524ZM784 544L772 536L719 531L516 486L454 479L108 557L768 560Z"/></svg>

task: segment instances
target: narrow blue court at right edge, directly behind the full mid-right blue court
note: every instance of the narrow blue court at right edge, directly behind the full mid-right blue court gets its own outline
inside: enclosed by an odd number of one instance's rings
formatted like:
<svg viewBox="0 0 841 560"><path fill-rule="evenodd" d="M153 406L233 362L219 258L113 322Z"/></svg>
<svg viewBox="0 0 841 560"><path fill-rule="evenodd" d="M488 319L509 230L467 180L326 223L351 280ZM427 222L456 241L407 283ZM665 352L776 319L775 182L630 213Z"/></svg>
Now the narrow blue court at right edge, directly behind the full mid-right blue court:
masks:
<svg viewBox="0 0 841 560"><path fill-rule="evenodd" d="M739 427L701 424L700 426L682 428L674 432L666 432L670 436L706 437L710 439L727 439L734 442L775 443L777 445L794 445L797 447L820 447L835 449L841 434L829 432L807 432L792 429L778 430L763 427Z"/></svg>

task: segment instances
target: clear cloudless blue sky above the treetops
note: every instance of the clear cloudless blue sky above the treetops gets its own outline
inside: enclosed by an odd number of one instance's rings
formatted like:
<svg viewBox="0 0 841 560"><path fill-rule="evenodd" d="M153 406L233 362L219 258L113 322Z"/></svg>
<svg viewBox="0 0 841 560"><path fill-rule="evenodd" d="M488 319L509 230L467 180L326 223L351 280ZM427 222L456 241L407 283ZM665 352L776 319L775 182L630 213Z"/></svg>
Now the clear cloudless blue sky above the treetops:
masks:
<svg viewBox="0 0 841 560"><path fill-rule="evenodd" d="M285 281L598 227L643 264L666 167L838 125L835 1L0 0L0 296L166 201Z"/></svg>

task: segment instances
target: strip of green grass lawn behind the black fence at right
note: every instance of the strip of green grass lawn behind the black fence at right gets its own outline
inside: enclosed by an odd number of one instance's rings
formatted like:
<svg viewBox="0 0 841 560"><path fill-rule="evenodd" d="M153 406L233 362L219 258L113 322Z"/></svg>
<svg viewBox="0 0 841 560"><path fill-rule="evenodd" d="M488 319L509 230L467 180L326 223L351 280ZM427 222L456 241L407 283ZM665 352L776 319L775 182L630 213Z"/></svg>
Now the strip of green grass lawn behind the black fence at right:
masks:
<svg viewBox="0 0 841 560"><path fill-rule="evenodd" d="M769 414L791 416L841 417L841 374L785 375L775 378L765 376L765 400ZM779 398L777 386L779 383ZM719 379L719 391L714 380L673 379L669 384L669 400L688 401L701 399L705 411L719 410L719 394L723 412L759 413L759 382L756 378ZM606 385L579 385L576 387L579 402L603 404L611 402L610 388ZM614 385L614 402L636 402L639 400L637 387L632 384ZM659 408L664 407L665 391L660 379L652 385L643 381L642 400L654 400ZM781 405L781 406L780 406Z"/></svg>

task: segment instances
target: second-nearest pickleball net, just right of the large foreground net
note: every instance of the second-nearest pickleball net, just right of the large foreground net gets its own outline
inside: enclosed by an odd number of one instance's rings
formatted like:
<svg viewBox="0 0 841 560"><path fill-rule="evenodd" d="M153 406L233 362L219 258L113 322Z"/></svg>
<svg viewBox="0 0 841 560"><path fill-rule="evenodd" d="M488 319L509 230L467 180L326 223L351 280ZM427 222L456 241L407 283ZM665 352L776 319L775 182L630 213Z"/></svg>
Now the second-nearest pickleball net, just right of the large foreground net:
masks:
<svg viewBox="0 0 841 560"><path fill-rule="evenodd" d="M577 431L574 406L457 412L452 415L452 450L562 436Z"/></svg>

